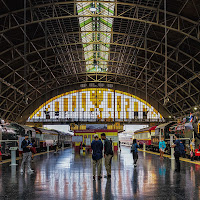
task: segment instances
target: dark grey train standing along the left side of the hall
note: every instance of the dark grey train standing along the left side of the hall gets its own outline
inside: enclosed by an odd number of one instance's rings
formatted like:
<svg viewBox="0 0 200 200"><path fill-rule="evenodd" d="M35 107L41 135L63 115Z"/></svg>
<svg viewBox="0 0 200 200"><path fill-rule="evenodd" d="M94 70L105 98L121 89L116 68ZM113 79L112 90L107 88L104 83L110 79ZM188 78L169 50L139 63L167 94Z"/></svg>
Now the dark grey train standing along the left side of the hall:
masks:
<svg viewBox="0 0 200 200"><path fill-rule="evenodd" d="M36 144L37 152L46 151L47 145L50 148L55 146L68 147L72 142L72 132L61 132L57 130L47 130L37 127L29 127L17 123L0 124L0 144L3 159L10 157L10 147L18 146L17 155L21 153L20 141L25 134L29 135L29 139Z"/></svg>

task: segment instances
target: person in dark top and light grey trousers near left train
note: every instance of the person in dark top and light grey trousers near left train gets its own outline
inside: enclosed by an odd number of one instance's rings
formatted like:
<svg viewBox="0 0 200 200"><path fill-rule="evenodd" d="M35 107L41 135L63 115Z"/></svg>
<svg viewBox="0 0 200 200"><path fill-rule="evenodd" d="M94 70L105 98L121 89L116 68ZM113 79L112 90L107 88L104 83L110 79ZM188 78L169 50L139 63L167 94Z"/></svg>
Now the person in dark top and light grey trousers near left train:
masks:
<svg viewBox="0 0 200 200"><path fill-rule="evenodd" d="M21 169L20 172L24 173L24 163L27 162L28 167L28 173L33 173L33 170L31 169L31 142L28 139L28 134L25 135L25 139L22 141L21 147L23 149L23 159L21 163Z"/></svg>

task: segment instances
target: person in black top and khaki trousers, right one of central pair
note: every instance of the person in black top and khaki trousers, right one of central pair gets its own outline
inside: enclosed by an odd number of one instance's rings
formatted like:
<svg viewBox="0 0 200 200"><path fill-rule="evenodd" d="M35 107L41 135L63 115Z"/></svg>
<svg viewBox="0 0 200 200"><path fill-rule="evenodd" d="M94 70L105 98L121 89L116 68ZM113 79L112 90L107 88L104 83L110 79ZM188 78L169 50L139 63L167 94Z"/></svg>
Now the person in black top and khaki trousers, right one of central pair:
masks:
<svg viewBox="0 0 200 200"><path fill-rule="evenodd" d="M104 157L105 167L107 171L107 178L111 178L111 161L113 157L113 150L111 142L106 138L106 134L101 134L101 139L104 140Z"/></svg>

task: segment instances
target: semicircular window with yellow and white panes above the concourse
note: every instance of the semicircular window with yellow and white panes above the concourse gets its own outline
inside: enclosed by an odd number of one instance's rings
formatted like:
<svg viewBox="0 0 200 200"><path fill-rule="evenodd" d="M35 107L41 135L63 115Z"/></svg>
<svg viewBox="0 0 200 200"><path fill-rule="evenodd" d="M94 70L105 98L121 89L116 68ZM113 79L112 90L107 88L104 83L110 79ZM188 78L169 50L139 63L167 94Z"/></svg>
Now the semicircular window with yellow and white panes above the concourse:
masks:
<svg viewBox="0 0 200 200"><path fill-rule="evenodd" d="M45 121L164 121L143 99L119 90L87 88L49 99L36 109L28 122Z"/></svg>

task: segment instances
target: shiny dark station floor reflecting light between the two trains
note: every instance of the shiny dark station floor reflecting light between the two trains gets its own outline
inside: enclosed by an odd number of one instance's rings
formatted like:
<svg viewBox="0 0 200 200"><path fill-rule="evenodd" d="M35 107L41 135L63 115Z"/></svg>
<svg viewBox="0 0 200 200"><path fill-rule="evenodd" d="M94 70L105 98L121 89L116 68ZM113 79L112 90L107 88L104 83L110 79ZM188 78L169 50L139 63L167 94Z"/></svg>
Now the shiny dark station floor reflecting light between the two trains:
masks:
<svg viewBox="0 0 200 200"><path fill-rule="evenodd" d="M113 157L111 179L93 181L91 154L72 149L38 155L32 168L33 174L21 175L19 165L0 165L0 199L200 199L200 165L181 161L181 173L175 173L174 160L140 151L134 168L124 146Z"/></svg>

